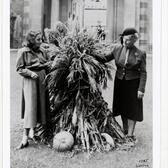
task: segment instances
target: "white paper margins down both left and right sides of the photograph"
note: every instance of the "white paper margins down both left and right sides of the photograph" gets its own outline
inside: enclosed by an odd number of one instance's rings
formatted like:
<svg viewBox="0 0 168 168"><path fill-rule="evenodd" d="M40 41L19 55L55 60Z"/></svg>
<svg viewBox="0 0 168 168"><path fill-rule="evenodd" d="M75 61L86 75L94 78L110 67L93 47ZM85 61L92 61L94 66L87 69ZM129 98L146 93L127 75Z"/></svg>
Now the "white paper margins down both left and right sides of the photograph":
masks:
<svg viewBox="0 0 168 168"><path fill-rule="evenodd" d="M168 167L168 1L153 0L153 168ZM0 1L0 162L10 167L10 0ZM2 150L1 150L2 149ZM1 166L1 165L0 165Z"/></svg>

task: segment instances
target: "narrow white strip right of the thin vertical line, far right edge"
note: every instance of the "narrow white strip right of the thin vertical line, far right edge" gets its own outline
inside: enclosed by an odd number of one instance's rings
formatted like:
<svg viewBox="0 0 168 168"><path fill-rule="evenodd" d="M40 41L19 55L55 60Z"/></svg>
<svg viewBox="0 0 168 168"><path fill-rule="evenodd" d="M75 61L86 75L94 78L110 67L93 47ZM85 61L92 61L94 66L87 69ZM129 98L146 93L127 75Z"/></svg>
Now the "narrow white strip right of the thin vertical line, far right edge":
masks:
<svg viewBox="0 0 168 168"><path fill-rule="evenodd" d="M161 167L168 167L168 1L161 5ZM157 58L156 58L157 59Z"/></svg>

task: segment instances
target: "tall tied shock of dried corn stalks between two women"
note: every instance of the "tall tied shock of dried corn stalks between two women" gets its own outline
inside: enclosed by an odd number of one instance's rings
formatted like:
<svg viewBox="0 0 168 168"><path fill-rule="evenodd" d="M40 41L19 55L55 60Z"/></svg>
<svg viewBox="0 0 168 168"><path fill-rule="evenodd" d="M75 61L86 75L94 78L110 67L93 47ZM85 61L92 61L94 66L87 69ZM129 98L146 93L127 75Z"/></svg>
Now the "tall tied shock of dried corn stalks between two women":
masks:
<svg viewBox="0 0 168 168"><path fill-rule="evenodd" d="M103 151L102 132L120 141L124 139L100 90L102 84L107 86L107 78L112 79L111 67L90 55L98 50L98 45L86 32L65 36L60 46L46 78L51 119L45 127L37 129L39 137L49 142L56 133L65 130L72 133L79 148Z"/></svg>

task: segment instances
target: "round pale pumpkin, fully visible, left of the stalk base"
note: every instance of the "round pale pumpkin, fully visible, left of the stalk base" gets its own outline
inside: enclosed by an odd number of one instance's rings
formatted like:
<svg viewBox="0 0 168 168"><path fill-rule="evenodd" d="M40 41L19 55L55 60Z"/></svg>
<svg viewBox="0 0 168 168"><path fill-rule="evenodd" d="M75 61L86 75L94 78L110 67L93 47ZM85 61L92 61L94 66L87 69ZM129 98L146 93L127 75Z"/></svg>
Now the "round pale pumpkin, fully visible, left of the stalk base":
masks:
<svg viewBox="0 0 168 168"><path fill-rule="evenodd" d="M61 131L53 138L53 148L59 152L67 151L72 148L74 138L70 132Z"/></svg>

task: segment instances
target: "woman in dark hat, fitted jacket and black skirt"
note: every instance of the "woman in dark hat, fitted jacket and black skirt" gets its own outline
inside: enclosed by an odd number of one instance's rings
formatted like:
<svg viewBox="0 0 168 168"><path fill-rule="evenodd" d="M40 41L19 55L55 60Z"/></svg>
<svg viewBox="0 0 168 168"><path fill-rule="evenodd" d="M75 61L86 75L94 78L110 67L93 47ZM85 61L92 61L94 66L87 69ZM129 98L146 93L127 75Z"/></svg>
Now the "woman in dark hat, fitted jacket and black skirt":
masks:
<svg viewBox="0 0 168 168"><path fill-rule="evenodd" d="M114 82L113 115L121 115L127 143L134 146L134 129L137 121L143 120L143 96L147 79L146 53L134 44L138 32L127 28L121 34L121 44L114 46L108 55L92 53L99 61L115 60L117 67Z"/></svg>

